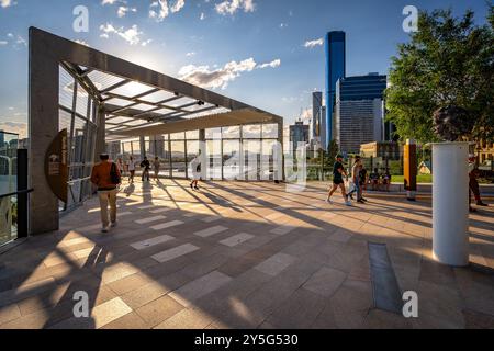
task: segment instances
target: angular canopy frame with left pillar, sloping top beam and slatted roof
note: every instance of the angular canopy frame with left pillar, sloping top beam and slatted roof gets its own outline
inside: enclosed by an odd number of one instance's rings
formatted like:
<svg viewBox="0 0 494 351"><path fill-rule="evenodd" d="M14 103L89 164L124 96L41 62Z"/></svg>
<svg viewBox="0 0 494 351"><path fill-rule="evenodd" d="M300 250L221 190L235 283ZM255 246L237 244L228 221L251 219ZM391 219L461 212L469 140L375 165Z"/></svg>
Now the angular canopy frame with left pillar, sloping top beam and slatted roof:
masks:
<svg viewBox="0 0 494 351"><path fill-rule="evenodd" d="M66 83L60 76L67 75ZM64 103L63 95L70 97ZM79 100L86 100L82 104ZM69 100L69 99L67 99ZM72 105L70 104L72 103ZM283 118L119 57L36 27L30 29L29 135L30 231L58 229L59 203L45 174L45 152L64 118L69 126L69 157L79 143L78 167L87 176L106 143L206 128L277 124ZM75 121L79 121L77 124ZM77 122L76 121L76 122ZM202 133L204 134L204 133ZM82 141L81 141L82 140ZM77 176L81 178L81 176Z"/></svg>

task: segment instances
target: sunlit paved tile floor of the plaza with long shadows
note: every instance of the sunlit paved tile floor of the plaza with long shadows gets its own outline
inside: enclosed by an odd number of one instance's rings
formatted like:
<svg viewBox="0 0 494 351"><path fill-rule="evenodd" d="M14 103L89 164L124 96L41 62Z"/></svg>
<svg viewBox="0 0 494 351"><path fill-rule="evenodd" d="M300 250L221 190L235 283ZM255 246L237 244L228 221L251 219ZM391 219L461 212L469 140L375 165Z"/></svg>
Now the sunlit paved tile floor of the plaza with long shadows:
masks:
<svg viewBox="0 0 494 351"><path fill-rule="evenodd" d="M474 264L449 268L431 259L430 199L346 207L325 185L125 185L105 235L92 199L0 256L0 328L494 328L494 207L471 216ZM418 318L374 307L369 242ZM90 318L74 317L79 291Z"/></svg>

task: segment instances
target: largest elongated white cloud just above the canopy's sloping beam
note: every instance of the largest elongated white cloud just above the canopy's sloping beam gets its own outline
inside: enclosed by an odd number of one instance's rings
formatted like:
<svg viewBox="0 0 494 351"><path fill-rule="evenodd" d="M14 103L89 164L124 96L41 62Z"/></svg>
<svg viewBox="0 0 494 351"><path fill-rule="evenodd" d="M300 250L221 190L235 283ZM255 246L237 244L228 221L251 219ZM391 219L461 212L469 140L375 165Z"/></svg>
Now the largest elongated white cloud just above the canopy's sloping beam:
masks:
<svg viewBox="0 0 494 351"><path fill-rule="evenodd" d="M243 61L231 61L224 67L211 70L209 66L189 65L182 67L179 71L180 79L191 84L211 89L226 89L231 81L240 77L244 72L251 72L254 69L262 69L268 67L280 66L281 60L276 59L269 64L257 65L254 58L247 58Z"/></svg>

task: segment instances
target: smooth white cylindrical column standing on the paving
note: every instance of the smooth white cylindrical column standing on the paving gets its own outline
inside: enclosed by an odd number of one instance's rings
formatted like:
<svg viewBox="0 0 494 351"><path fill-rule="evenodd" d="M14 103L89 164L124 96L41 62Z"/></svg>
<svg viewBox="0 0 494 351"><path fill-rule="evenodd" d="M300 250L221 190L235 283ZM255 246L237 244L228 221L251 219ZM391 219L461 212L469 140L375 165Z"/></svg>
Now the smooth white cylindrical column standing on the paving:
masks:
<svg viewBox="0 0 494 351"><path fill-rule="evenodd" d="M469 143L433 144L433 253L440 263L469 264Z"/></svg>

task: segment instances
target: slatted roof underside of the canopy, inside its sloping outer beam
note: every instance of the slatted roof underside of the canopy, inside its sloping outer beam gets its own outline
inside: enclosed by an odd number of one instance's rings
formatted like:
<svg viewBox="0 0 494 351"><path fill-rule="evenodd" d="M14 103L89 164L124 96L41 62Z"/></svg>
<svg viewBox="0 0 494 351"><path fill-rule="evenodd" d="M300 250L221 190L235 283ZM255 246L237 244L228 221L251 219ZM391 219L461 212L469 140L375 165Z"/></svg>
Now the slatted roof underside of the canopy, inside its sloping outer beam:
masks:
<svg viewBox="0 0 494 351"><path fill-rule="evenodd" d="M283 123L280 116L155 71L147 77L157 75L157 81L168 83L157 87L154 79L116 76L111 67L102 71L69 61L60 66L98 99L106 115L106 139Z"/></svg>

